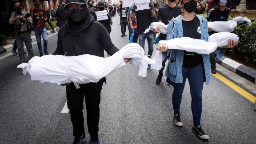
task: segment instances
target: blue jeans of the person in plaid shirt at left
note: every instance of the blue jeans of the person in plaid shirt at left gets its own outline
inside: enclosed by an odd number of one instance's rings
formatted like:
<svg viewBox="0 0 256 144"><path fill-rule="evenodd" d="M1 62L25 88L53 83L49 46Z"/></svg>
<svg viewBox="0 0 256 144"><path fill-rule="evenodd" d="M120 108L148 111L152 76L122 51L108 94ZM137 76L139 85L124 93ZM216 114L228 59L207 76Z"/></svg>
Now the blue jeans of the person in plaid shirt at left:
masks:
<svg viewBox="0 0 256 144"><path fill-rule="evenodd" d="M43 37L44 41L44 52L47 52L47 44L48 44L48 38L47 38L47 30L46 28L35 28L35 34L36 34L36 42L37 47L39 49L39 53L42 54L42 45L41 45L41 35Z"/></svg>

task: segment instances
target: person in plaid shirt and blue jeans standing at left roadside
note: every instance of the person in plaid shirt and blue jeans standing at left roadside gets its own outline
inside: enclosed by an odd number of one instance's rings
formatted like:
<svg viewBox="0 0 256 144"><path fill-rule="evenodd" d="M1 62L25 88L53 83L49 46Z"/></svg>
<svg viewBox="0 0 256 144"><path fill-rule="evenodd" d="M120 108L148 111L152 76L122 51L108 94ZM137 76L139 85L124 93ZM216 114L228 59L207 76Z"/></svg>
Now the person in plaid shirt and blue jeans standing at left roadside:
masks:
<svg viewBox="0 0 256 144"><path fill-rule="evenodd" d="M47 38L47 30L46 30L46 24L47 22L47 13L44 8L40 8L40 0L33 0L35 8L32 8L30 11L32 14L33 24L34 24L34 30L36 34L36 42L37 47L39 49L40 56L48 55L47 51L47 44L48 44L48 38ZM42 50L41 45L41 35L43 37L44 41L44 53Z"/></svg>

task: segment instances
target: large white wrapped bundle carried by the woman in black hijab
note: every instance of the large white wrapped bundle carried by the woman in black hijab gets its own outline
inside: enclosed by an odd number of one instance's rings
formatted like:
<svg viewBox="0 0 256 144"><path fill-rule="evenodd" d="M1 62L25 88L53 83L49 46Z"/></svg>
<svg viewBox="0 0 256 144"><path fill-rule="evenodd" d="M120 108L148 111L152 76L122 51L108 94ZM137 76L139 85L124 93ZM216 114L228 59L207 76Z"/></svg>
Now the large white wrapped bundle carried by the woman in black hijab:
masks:
<svg viewBox="0 0 256 144"><path fill-rule="evenodd" d="M42 83L67 84L76 82L86 84L98 82L104 76L123 67L125 65L124 58L132 58L129 63L139 66L139 76L146 76L147 67L144 67L145 64L155 65L153 59L144 56L144 50L139 44L131 43L107 58L92 55L35 56L28 61L28 64L20 64L17 68L23 68L24 75L29 73L31 80L38 80Z"/></svg>

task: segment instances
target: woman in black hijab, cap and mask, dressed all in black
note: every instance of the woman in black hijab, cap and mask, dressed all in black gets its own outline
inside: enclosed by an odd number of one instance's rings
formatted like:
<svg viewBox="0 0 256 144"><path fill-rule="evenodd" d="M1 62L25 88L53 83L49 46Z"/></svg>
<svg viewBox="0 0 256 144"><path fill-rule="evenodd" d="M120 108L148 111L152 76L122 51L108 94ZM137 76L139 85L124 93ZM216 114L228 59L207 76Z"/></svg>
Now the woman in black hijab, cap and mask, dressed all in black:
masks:
<svg viewBox="0 0 256 144"><path fill-rule="evenodd" d="M102 24L94 20L90 15L84 0L67 0L64 8L68 9L66 13L67 21L60 28L58 33L57 48L54 55L79 56L90 54L104 57L104 50L113 55L118 51L112 43L108 31ZM127 63L130 59L125 58ZM97 83L80 84L76 88L73 83L67 84L68 109L73 125L73 144L81 144L86 140L84 133L83 102L85 98L87 110L87 125L90 134L91 144L101 144L98 136L100 119L100 92L103 78Z"/></svg>

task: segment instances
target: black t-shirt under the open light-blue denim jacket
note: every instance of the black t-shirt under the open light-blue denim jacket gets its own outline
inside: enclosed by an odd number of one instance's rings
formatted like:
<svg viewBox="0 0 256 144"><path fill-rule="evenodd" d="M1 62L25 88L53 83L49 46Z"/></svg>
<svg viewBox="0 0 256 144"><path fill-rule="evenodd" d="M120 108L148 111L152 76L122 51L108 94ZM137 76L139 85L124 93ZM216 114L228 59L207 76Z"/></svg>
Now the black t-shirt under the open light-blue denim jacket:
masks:
<svg viewBox="0 0 256 144"><path fill-rule="evenodd" d="M182 20L183 36L193 39L201 39L200 21L195 16L193 20ZM195 52L184 52L183 67L194 67L202 63L203 57Z"/></svg>

